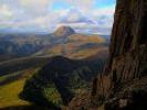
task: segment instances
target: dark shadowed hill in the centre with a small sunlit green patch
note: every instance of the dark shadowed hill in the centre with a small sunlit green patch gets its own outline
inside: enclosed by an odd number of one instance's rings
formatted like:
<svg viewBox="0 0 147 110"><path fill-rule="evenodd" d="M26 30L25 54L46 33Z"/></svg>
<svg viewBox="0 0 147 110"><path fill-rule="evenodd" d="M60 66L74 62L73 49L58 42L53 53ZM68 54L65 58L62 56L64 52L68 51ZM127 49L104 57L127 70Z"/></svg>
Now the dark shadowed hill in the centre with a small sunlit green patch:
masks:
<svg viewBox="0 0 147 110"><path fill-rule="evenodd" d="M52 57L27 80L21 98L49 108L61 108L74 96L88 89L97 72L103 70L104 63L105 58L98 57L81 61L63 56Z"/></svg>

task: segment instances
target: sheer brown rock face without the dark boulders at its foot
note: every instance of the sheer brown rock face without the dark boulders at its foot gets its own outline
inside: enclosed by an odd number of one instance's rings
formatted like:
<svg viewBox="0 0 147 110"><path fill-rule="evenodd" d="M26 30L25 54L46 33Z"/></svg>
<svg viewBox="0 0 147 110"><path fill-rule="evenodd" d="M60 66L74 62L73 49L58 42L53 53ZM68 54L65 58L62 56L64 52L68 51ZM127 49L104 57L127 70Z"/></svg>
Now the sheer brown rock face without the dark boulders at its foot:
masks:
<svg viewBox="0 0 147 110"><path fill-rule="evenodd" d="M109 59L104 75L94 84L97 85L92 91L94 105L115 97L125 84L147 76L146 24L146 0L117 0Z"/></svg>

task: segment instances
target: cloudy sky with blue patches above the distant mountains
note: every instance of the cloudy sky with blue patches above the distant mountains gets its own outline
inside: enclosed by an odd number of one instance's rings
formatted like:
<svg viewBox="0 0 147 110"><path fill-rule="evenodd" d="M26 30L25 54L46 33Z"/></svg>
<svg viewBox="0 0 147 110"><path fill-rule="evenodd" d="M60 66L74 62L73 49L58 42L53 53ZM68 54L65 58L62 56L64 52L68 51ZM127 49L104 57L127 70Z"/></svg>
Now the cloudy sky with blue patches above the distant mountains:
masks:
<svg viewBox="0 0 147 110"><path fill-rule="evenodd" d="M0 0L0 31L111 34L115 0Z"/></svg>

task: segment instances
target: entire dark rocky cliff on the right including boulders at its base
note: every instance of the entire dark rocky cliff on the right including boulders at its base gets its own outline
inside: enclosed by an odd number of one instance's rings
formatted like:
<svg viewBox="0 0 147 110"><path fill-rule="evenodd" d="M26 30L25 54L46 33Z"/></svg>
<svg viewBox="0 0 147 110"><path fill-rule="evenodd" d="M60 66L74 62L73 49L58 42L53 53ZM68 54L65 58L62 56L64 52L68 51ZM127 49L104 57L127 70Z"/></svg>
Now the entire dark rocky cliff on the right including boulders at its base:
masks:
<svg viewBox="0 0 147 110"><path fill-rule="evenodd" d="M146 100L147 0L117 0L109 58L93 81L88 105L92 110L147 110Z"/></svg>

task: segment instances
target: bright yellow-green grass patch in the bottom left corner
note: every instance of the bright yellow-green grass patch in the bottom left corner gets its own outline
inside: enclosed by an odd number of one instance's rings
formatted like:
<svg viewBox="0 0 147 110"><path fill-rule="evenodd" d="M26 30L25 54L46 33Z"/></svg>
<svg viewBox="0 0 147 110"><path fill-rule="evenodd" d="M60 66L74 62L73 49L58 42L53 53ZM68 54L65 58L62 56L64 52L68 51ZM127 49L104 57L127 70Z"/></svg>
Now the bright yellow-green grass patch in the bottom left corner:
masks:
<svg viewBox="0 0 147 110"><path fill-rule="evenodd" d="M0 87L0 109L11 106L29 106L30 103L19 99L25 79L19 79Z"/></svg>

